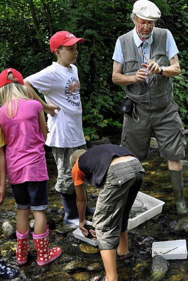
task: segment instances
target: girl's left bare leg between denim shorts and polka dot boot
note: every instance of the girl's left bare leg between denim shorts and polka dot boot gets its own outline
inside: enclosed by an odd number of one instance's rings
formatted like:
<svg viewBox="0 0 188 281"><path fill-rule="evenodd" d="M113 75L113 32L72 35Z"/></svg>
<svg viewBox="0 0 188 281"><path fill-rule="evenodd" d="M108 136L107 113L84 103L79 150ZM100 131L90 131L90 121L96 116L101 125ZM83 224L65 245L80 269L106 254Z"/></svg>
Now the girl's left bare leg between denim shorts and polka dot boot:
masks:
<svg viewBox="0 0 188 281"><path fill-rule="evenodd" d="M29 212L30 209L18 209L16 229L20 234L25 234L29 228Z"/></svg>

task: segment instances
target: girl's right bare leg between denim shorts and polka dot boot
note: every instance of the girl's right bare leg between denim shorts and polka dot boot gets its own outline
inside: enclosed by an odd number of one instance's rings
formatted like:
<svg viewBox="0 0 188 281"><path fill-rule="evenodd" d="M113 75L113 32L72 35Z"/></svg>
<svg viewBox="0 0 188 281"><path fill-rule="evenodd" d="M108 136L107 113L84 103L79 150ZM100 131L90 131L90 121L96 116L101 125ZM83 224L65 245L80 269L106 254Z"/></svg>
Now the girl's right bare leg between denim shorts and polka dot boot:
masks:
<svg viewBox="0 0 188 281"><path fill-rule="evenodd" d="M35 217L35 235L46 233L47 221L45 210L33 211L33 215Z"/></svg>

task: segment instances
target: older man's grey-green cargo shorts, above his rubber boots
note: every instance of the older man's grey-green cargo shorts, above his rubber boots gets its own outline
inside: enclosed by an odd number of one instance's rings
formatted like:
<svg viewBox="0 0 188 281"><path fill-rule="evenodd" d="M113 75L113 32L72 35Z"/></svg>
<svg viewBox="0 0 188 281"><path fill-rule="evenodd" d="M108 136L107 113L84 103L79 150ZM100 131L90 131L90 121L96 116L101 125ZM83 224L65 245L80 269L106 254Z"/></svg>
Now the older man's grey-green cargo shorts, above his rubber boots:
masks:
<svg viewBox="0 0 188 281"><path fill-rule="evenodd" d="M157 110L135 104L135 113L140 120L135 122L129 115L124 115L120 146L132 151L139 160L144 160L149 153L151 133L154 132L161 157L172 161L184 158L185 130L178 108L173 100Z"/></svg>

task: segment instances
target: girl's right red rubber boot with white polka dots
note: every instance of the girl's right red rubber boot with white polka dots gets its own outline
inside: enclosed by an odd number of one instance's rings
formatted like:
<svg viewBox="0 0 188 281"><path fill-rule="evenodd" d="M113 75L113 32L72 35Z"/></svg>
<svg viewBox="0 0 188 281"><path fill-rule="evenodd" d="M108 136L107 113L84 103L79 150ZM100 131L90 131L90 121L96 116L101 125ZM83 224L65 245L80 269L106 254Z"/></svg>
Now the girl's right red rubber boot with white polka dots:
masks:
<svg viewBox="0 0 188 281"><path fill-rule="evenodd" d="M33 240L35 243L35 248L37 251L37 264L38 265L46 265L51 263L53 260L58 258L61 255L61 248L54 247L52 249L49 248L49 229L47 229L46 233L36 235L33 233Z"/></svg>

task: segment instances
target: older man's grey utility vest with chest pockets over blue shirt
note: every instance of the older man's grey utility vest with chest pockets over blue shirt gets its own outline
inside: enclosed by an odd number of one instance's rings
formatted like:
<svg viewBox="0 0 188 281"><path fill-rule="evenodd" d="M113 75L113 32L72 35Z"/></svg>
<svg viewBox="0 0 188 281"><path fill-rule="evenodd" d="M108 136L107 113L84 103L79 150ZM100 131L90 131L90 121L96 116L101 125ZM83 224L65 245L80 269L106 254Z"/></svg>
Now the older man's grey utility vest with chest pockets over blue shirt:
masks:
<svg viewBox="0 0 188 281"><path fill-rule="evenodd" d="M123 74L135 75L142 68L138 48L133 38L133 31L119 37L124 65ZM160 66L169 66L166 52L167 29L153 28L150 59ZM149 59L149 58L148 58ZM165 107L173 99L173 84L170 77L155 74L149 78L149 83L138 82L125 86L126 96L147 109Z"/></svg>

